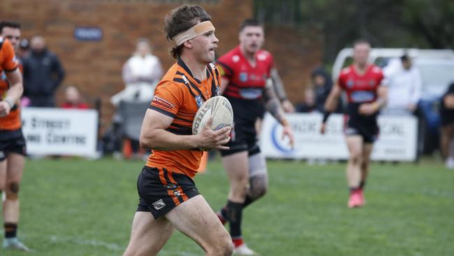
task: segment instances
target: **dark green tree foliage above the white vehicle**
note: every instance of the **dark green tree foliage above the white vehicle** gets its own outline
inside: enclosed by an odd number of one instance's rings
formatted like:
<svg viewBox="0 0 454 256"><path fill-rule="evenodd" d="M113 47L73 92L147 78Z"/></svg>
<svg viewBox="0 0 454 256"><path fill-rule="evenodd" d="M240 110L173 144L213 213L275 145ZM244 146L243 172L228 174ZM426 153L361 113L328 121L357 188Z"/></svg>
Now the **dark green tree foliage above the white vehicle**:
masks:
<svg viewBox="0 0 454 256"><path fill-rule="evenodd" d="M323 36L325 62L357 38L374 47L454 48L452 0L255 0L256 17Z"/></svg>

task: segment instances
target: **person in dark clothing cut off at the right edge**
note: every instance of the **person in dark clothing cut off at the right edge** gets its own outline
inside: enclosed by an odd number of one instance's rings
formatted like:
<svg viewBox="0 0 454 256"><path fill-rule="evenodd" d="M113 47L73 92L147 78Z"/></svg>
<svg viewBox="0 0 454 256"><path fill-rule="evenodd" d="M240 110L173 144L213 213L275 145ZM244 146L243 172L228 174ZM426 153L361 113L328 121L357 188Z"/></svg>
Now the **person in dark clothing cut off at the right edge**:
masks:
<svg viewBox="0 0 454 256"><path fill-rule="evenodd" d="M448 169L454 169L454 81L448 91L441 97L441 157L446 161Z"/></svg>

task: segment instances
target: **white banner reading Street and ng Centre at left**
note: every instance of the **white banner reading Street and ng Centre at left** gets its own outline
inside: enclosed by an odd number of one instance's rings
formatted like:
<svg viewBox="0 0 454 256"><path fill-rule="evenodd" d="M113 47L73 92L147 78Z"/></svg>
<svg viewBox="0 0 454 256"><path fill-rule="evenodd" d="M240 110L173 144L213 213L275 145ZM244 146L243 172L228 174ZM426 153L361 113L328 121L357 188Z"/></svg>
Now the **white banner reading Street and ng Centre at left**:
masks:
<svg viewBox="0 0 454 256"><path fill-rule="evenodd" d="M98 112L64 108L22 108L28 155L96 157Z"/></svg>

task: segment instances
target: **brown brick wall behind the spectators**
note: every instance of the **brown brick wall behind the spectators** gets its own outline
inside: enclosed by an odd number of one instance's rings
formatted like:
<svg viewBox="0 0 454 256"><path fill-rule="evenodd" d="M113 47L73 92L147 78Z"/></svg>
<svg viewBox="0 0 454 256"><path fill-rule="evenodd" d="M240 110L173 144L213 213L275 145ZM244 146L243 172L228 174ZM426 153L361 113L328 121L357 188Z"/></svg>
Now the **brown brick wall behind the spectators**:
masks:
<svg viewBox="0 0 454 256"><path fill-rule="evenodd" d="M163 36L163 17L180 5L177 0L2 0L0 17L22 23L23 37L43 34L50 50L59 55L66 69L64 85L76 85L89 102L101 98L102 120L108 124L114 110L110 97L124 88L121 70L131 56L136 39L150 38L154 54L167 69L174 59L168 55ZM237 29L251 17L252 0L199 0L217 27L218 55L237 45ZM77 41L75 27L99 27L101 41ZM289 98L302 99L302 86L321 49L312 37L294 29L267 29L266 47L276 59ZM315 45L315 46L314 46ZM63 87L57 93L61 101Z"/></svg>

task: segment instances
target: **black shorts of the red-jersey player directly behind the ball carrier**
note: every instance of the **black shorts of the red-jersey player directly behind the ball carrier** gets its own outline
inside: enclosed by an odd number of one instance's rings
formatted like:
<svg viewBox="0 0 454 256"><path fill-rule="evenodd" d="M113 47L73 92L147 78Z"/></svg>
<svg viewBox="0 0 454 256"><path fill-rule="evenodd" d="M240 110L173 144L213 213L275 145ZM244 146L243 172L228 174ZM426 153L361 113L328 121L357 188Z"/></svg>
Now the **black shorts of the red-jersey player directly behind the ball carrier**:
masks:
<svg viewBox="0 0 454 256"><path fill-rule="evenodd" d="M230 141L226 144L228 150L219 150L221 155L232 155L237 152L248 151L249 155L260 152L257 145L256 122L251 120L234 120Z"/></svg>

